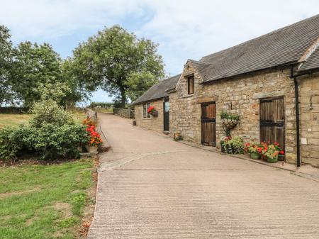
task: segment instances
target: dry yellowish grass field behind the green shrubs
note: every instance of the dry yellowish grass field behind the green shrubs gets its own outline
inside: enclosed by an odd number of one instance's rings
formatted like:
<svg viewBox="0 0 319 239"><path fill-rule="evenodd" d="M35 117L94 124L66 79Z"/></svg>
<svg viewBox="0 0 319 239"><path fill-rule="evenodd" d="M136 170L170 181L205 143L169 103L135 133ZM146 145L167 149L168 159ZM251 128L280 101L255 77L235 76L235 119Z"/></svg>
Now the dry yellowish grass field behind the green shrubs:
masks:
<svg viewBox="0 0 319 239"><path fill-rule="evenodd" d="M83 111L70 112L74 118L74 121L82 123L86 114ZM0 113L0 128L4 126L17 126L21 123L26 123L30 119L31 115L26 113Z"/></svg>

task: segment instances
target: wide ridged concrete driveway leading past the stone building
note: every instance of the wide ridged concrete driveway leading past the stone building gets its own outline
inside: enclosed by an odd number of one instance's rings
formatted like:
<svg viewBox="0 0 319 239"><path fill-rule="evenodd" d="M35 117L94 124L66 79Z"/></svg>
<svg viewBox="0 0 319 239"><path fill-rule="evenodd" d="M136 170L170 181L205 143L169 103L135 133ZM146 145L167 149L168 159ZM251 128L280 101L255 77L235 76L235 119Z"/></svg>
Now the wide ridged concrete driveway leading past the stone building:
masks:
<svg viewBox="0 0 319 239"><path fill-rule="evenodd" d="M319 238L319 183L100 115L89 238Z"/></svg>

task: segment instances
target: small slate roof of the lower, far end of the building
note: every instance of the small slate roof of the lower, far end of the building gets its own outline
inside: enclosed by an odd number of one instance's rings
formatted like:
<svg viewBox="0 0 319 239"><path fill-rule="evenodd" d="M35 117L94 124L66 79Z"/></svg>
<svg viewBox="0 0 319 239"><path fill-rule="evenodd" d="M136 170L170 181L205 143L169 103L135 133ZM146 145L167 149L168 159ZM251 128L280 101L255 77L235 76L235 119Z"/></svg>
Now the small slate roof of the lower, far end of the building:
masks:
<svg viewBox="0 0 319 239"><path fill-rule="evenodd" d="M153 85L148 89L142 96L140 96L134 104L140 104L145 101L152 101L155 99L161 99L166 96L168 89L174 89L176 87L177 82L179 81L179 77L181 74L177 74L174 77L169 77L167 79L163 79L161 82Z"/></svg>

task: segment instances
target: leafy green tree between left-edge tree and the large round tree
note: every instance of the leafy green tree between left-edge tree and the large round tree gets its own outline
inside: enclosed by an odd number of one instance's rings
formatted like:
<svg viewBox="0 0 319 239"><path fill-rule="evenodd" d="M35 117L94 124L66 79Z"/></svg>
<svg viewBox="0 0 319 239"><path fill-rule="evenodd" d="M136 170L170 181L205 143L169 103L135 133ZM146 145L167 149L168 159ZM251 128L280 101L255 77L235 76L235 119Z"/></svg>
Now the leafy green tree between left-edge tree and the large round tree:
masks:
<svg viewBox="0 0 319 239"><path fill-rule="evenodd" d="M51 45L20 43L14 50L13 87L24 105L40 100L39 87L62 81L60 56Z"/></svg>

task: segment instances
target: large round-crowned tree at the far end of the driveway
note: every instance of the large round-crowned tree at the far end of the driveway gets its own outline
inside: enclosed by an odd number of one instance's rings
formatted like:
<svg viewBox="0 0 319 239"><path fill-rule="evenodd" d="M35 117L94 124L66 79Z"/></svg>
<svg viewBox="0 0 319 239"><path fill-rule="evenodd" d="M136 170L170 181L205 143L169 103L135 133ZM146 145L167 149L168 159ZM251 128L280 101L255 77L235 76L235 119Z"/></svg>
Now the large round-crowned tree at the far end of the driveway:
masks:
<svg viewBox="0 0 319 239"><path fill-rule="evenodd" d="M74 74L86 89L99 87L116 96L125 107L128 97L135 99L139 92L164 77L162 57L151 40L138 39L121 26L104 28L81 43L73 52ZM142 76L147 76L143 78Z"/></svg>

